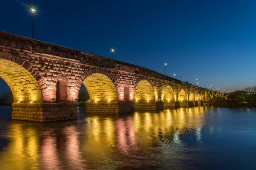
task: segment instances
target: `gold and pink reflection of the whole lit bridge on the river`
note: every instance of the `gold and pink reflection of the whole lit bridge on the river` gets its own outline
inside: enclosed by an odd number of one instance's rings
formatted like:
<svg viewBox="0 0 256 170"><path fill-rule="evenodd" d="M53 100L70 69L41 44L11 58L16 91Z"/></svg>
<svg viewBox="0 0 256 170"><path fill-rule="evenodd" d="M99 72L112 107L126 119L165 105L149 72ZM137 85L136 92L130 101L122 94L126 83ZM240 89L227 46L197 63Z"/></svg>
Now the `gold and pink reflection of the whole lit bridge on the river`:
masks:
<svg viewBox="0 0 256 170"><path fill-rule="evenodd" d="M48 124L12 121L3 135L9 142L0 151L0 169L182 169L196 161L188 152L199 148L189 145L191 141L202 144L208 111L197 107L87 115L80 121ZM213 134L213 130L211 126L207 132Z"/></svg>

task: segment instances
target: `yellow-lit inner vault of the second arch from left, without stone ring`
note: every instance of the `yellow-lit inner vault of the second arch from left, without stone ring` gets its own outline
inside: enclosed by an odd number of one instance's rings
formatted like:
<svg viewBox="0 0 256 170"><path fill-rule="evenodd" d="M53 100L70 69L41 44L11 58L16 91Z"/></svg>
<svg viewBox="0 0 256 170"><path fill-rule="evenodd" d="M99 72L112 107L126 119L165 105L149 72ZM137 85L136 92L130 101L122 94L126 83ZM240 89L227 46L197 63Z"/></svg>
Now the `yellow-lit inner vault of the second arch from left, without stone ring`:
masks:
<svg viewBox="0 0 256 170"><path fill-rule="evenodd" d="M83 84L89 94L90 101L118 101L116 87L112 80L102 74L93 73L89 75Z"/></svg>

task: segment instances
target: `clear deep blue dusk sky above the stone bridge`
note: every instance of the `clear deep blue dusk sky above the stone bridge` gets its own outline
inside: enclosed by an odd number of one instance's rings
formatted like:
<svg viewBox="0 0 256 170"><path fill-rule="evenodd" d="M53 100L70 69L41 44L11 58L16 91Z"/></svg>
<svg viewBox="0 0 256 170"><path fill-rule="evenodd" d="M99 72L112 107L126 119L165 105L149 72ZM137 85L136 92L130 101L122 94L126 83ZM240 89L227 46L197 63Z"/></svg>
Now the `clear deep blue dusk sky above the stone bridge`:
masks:
<svg viewBox="0 0 256 170"><path fill-rule="evenodd" d="M226 91L256 85L254 0L4 0L0 30ZM0 81L0 92L7 89Z"/></svg>

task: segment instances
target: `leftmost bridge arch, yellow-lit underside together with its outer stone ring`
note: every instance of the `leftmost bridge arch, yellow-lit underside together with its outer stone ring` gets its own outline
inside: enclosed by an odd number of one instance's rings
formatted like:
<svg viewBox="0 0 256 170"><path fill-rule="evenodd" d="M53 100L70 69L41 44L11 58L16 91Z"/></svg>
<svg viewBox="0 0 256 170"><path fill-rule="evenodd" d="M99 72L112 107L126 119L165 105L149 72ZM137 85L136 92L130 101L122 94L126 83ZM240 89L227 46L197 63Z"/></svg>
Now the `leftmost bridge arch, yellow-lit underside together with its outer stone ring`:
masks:
<svg viewBox="0 0 256 170"><path fill-rule="evenodd" d="M0 77L10 87L14 102L50 101L43 77L17 55L0 52Z"/></svg>

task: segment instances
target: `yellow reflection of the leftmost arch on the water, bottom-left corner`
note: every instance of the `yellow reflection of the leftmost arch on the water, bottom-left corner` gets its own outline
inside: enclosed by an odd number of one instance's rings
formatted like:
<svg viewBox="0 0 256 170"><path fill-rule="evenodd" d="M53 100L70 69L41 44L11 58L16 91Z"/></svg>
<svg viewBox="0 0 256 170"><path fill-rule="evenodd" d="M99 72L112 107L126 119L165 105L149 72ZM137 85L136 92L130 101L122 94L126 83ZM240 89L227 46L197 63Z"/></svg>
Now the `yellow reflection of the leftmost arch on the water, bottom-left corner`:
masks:
<svg viewBox="0 0 256 170"><path fill-rule="evenodd" d="M13 123L6 136L10 142L1 150L0 169L34 169L38 167L39 136L34 128L23 128L21 124ZM26 163L23 163L26 161Z"/></svg>

